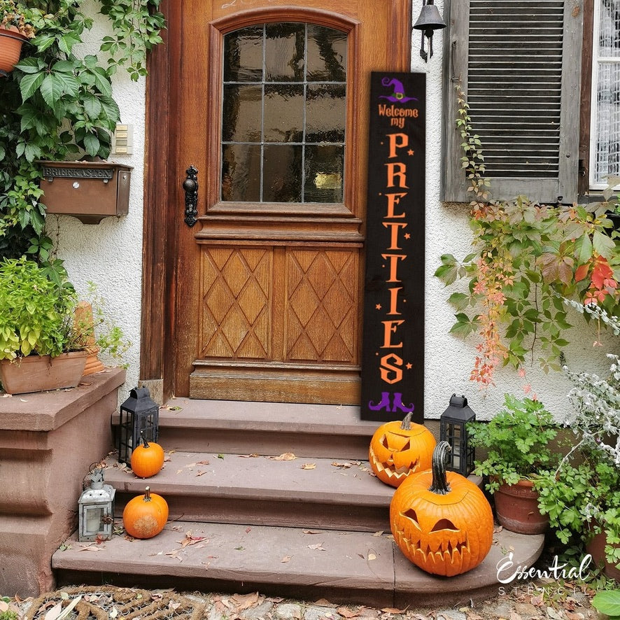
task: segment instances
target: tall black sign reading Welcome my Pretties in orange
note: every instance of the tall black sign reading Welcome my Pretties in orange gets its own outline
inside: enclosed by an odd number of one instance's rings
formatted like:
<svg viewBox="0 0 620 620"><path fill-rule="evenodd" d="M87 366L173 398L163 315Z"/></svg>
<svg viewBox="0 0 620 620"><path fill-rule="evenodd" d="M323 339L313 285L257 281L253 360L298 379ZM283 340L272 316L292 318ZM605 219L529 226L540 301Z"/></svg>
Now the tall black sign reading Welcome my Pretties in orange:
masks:
<svg viewBox="0 0 620 620"><path fill-rule="evenodd" d="M424 73L370 85L362 420L423 421Z"/></svg>

